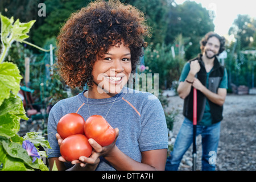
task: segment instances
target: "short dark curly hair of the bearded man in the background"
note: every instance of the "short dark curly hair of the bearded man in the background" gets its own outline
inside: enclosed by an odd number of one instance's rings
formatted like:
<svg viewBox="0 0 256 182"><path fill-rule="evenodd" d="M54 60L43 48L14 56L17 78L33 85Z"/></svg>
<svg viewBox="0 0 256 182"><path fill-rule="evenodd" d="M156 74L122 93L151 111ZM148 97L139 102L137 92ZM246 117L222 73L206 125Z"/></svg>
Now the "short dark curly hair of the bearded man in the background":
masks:
<svg viewBox="0 0 256 182"><path fill-rule="evenodd" d="M204 47L205 45L207 44L207 41L209 40L209 38L212 38L213 36L215 36L218 40L220 40L220 50L218 51L218 54L219 55L221 52L223 52L225 50L225 41L226 39L224 38L224 36L220 36L218 34L216 34L215 32L208 32L203 39L201 39L200 41L200 49L201 49L201 52L203 53L204 51Z"/></svg>

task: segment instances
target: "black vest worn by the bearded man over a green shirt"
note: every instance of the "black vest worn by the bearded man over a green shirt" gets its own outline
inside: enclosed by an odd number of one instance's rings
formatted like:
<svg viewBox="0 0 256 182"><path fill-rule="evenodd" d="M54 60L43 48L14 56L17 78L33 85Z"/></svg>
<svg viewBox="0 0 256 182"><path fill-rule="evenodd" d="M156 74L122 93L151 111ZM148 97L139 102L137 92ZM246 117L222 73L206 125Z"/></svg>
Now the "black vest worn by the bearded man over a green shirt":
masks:
<svg viewBox="0 0 256 182"><path fill-rule="evenodd" d="M199 60L200 64L200 71L197 73L197 78L201 81L201 83L206 86L207 82L207 72L204 67L204 62L201 59L202 55L199 55L195 59L189 60L189 63L193 60ZM218 86L224 76L224 67L220 65L218 62L217 57L214 59L213 69L210 72L209 80L208 80L208 89L213 92L217 93ZM197 122L201 121L204 114L205 103L207 97L204 96L202 92L197 90ZM210 114L212 115L212 124L220 122L222 117L223 106L214 104L212 101L208 100L210 105ZM184 100L184 107L183 107L183 115L187 117L190 121L193 121L193 89L191 89L190 93Z"/></svg>

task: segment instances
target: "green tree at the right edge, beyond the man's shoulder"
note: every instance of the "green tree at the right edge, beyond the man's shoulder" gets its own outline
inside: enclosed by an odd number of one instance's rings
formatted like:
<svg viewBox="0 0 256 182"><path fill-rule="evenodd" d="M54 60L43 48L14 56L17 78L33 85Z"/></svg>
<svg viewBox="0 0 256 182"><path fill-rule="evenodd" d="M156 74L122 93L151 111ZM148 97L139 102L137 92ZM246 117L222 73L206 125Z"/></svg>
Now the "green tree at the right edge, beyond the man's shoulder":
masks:
<svg viewBox="0 0 256 182"><path fill-rule="evenodd" d="M249 15L237 15L232 27L229 28L229 35L234 35L236 42L232 43L228 49L232 52L228 54L229 82L238 85L254 85L255 55L253 50L256 47L256 19Z"/></svg>

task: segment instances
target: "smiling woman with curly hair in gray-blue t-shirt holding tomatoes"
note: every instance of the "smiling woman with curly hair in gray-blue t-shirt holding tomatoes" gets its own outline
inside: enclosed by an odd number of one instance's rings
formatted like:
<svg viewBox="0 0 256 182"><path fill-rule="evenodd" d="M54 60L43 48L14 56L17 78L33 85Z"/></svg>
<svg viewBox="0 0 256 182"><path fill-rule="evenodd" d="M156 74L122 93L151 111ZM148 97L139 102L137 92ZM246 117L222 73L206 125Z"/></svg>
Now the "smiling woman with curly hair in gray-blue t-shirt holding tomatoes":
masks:
<svg viewBox="0 0 256 182"><path fill-rule="evenodd" d="M55 161L59 170L164 170L168 137L162 105L150 93L125 87L149 35L143 13L118 1L92 2L64 24L58 36L60 74L67 85L89 89L57 102L49 113L50 168ZM85 121L102 115L117 137L105 147L90 138L92 155L66 163L56 126L78 108Z"/></svg>

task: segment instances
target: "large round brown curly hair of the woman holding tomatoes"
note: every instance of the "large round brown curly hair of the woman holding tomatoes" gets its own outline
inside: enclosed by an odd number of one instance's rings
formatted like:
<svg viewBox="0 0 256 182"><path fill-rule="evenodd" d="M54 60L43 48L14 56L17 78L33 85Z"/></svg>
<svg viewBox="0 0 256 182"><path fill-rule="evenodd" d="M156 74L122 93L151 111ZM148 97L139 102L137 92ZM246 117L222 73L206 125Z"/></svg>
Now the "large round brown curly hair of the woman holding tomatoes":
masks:
<svg viewBox="0 0 256 182"><path fill-rule="evenodd" d="M92 67L97 57L121 44L130 48L132 72L135 71L144 37L150 36L144 14L134 6L110 0L94 1L73 13L57 36L57 65L71 88L93 85Z"/></svg>

